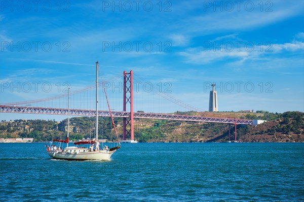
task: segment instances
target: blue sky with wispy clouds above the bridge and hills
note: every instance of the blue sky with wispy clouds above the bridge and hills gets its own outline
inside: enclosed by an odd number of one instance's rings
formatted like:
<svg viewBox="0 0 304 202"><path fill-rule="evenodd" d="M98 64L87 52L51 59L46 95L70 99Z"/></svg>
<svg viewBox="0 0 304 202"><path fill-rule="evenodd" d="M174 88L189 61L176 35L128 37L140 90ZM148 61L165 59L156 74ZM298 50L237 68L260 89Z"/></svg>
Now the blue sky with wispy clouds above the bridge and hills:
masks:
<svg viewBox="0 0 304 202"><path fill-rule="evenodd" d="M1 1L0 103L94 85L99 61L117 111L123 95L112 87L121 85L123 71L133 70L139 89L134 111L194 109L162 100L160 93L208 111L214 82L219 111L303 112L303 8L304 1ZM150 92L151 85L159 93ZM84 104L92 103L88 97L92 92L75 95L71 107L91 108Z"/></svg>

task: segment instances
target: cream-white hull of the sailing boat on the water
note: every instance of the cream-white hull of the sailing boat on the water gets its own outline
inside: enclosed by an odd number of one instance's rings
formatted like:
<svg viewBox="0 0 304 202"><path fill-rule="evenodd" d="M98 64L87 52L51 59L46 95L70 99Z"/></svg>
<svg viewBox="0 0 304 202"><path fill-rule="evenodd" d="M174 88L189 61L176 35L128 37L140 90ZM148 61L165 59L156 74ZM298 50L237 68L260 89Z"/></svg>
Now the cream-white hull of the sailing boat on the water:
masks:
<svg viewBox="0 0 304 202"><path fill-rule="evenodd" d="M100 150L100 151L86 151L86 152L79 152L78 154L75 153L67 153L65 151L48 151L50 157L54 159L62 159L62 160L110 160L113 153L116 150L108 151L108 150ZM55 154L54 154L55 153Z"/></svg>

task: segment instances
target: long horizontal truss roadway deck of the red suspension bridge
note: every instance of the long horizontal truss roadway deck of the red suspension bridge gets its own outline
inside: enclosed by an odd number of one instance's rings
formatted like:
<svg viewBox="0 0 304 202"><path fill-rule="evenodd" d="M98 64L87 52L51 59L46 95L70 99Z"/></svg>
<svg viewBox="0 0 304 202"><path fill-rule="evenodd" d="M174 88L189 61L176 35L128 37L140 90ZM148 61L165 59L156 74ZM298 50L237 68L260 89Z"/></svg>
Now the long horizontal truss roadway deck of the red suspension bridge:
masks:
<svg viewBox="0 0 304 202"><path fill-rule="evenodd" d="M23 114L52 114L52 115L67 115L67 109L56 108L38 108L38 107L18 107L18 106L0 106L0 113L23 113ZM112 111L113 117L130 117L130 112L118 112ZM70 115L76 116L95 116L95 110L69 110ZM109 117L109 111L98 111L98 116ZM200 116L184 116L174 114L156 114L156 113L139 113L134 112L134 118L142 119L166 119L177 121L198 121L198 122L213 122L213 123L230 123L230 124L246 124L252 125L252 120L233 119L233 118L212 118L212 117L200 117Z"/></svg>

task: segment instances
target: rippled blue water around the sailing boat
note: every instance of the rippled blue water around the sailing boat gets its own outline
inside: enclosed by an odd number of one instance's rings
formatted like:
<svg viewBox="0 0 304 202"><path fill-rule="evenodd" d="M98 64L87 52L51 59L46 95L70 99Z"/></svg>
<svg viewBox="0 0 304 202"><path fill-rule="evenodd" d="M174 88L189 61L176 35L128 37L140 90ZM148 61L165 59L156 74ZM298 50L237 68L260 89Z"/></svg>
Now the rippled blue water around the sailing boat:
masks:
<svg viewBox="0 0 304 202"><path fill-rule="evenodd" d="M1 201L303 201L303 143L122 144L111 161L0 144Z"/></svg>

